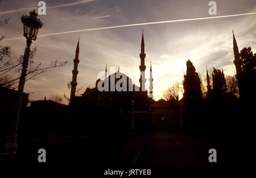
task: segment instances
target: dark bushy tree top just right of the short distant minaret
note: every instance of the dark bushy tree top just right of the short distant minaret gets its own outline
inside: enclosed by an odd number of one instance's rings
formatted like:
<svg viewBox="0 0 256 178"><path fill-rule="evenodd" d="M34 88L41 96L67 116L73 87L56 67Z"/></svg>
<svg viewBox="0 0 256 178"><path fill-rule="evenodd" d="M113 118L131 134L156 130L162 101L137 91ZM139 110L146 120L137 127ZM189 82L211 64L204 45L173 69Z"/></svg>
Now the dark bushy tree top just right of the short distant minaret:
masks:
<svg viewBox="0 0 256 178"><path fill-rule="evenodd" d="M215 69L212 71L212 90L215 96L220 96L226 88L226 79L223 70Z"/></svg>

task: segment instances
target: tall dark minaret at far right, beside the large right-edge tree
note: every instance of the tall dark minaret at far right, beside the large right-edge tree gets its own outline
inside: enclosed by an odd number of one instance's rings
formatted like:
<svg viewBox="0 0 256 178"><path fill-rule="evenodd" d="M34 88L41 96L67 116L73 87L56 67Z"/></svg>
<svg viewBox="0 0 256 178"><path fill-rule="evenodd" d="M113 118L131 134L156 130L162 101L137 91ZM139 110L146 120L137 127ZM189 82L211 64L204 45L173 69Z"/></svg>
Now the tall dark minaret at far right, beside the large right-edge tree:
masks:
<svg viewBox="0 0 256 178"><path fill-rule="evenodd" d="M237 41L236 38L234 37L234 31L233 31L233 50L234 50L234 65L236 66L236 78L237 78L237 83L238 83L238 89L239 89L239 95L241 98L241 59L239 57L239 51L238 51L238 46L237 46Z"/></svg>

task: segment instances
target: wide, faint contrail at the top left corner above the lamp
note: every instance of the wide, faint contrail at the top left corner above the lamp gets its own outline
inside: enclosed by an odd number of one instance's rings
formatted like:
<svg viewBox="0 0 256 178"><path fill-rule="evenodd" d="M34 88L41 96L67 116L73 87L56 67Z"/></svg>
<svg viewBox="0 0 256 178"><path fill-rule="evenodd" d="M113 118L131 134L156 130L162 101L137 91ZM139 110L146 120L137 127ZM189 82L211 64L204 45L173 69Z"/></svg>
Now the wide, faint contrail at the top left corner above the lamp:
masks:
<svg viewBox="0 0 256 178"><path fill-rule="evenodd" d="M63 5L56 5L56 6L46 6L46 9L55 9L58 7L70 7L70 6L75 6L75 5L81 5L87 2L92 2L92 1L97 1L97 0L81 0L81 1L77 1L77 2L72 2L72 3L66 3ZM24 11L24 10L32 10L32 9L38 9L37 7L27 7L27 8L20 8L20 9L14 9L14 10L9 10L9 11L2 11L0 12L0 15L5 15L5 14L10 14L13 12L19 12L19 11Z"/></svg>

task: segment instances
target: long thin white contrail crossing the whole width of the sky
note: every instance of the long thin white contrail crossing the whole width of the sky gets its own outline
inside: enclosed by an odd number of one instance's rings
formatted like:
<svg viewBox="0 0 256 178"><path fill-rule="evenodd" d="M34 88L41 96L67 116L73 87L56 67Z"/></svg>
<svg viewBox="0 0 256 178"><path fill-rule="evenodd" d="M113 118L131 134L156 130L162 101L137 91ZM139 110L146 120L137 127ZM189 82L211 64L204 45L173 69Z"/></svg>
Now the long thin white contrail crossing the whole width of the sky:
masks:
<svg viewBox="0 0 256 178"><path fill-rule="evenodd" d="M66 34L66 33L76 33L76 32L85 32L85 31L96 31L96 30L101 30L101 29L112 29L112 28L133 27L133 26L145 26L145 25L160 24L160 23L172 23L172 22L185 22L185 21L193 21L193 20L205 20L205 19L228 18L228 17L232 17L232 16L253 15L253 14L256 14L256 12L251 12L251 13L247 13L247 14L235 14L235 15L224 15L224 16L212 16L212 17L207 17L207 18L180 19L180 20L167 20L167 21L160 21L160 22L135 23L135 24L126 24L126 25L111 26L111 27L100 27L100 28L77 29L77 30L67 31L67 32L48 33L48 34L45 34L45 35L39 35L38 37L51 36L51 35L62 35L62 34ZM24 37L16 37L16 38L12 38L12 39L5 39L5 40L3 40L3 41L19 40L19 39L23 39L23 38L24 38Z"/></svg>

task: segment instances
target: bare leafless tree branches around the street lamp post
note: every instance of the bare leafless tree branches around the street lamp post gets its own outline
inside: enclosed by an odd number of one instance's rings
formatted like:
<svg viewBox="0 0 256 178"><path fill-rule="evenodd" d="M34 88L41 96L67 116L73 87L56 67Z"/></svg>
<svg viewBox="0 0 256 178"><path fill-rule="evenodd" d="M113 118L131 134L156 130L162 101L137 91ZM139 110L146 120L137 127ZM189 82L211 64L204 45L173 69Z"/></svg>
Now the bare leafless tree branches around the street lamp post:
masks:
<svg viewBox="0 0 256 178"><path fill-rule="evenodd" d="M0 20L0 27L5 27L9 19ZM5 36L0 37L2 41ZM36 46L30 51L28 58L27 80L34 79L37 75L45 73L47 69L63 67L68 61L59 62L58 60L51 61L50 65L42 68L42 63L35 63L34 58L36 54ZM21 65L23 62L23 55L16 60L11 58L11 46L0 46L0 86L6 88L17 88L19 83Z"/></svg>

